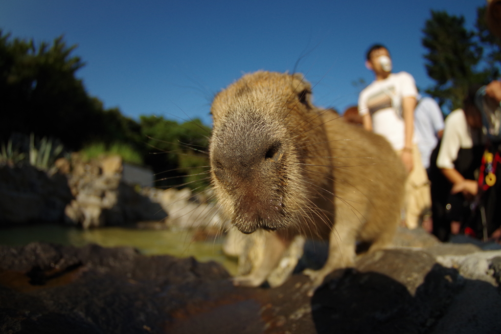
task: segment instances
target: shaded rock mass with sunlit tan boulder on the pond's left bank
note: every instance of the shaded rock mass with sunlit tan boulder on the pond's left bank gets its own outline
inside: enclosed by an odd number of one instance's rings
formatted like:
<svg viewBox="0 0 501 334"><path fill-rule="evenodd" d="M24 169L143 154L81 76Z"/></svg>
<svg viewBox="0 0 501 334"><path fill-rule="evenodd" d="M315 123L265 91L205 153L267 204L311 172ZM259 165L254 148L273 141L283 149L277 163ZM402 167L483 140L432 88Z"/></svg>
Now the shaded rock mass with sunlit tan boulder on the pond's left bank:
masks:
<svg viewBox="0 0 501 334"><path fill-rule="evenodd" d="M160 204L122 181L120 157L91 163L73 157L73 164L58 160L62 170L73 168L67 175L31 165L0 166L0 227L66 221L87 228L167 217Z"/></svg>

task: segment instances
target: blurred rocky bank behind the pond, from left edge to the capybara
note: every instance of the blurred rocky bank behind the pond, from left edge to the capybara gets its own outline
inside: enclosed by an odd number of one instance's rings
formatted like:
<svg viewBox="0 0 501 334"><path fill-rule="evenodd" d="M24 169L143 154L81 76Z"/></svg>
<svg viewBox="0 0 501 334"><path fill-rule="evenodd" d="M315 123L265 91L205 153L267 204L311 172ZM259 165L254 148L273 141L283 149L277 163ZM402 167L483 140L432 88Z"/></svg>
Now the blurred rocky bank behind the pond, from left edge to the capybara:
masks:
<svg viewBox="0 0 501 334"><path fill-rule="evenodd" d="M84 161L60 158L46 172L31 165L0 165L0 228L65 223L84 229L161 222L164 227L218 227L209 191L140 187L123 176L120 156Z"/></svg>

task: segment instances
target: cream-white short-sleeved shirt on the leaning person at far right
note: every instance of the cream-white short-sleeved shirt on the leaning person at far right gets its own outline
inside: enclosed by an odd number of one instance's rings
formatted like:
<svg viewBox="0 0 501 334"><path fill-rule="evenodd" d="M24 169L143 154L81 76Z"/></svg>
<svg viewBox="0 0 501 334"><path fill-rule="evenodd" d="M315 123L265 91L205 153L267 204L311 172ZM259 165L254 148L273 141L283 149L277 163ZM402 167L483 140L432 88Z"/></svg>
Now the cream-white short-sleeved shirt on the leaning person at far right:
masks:
<svg viewBox="0 0 501 334"><path fill-rule="evenodd" d="M481 144L477 138L471 136L471 128L466 123L466 116L462 109L456 109L445 118L442 143L438 150L437 167L453 169L454 161L460 148L472 148ZM481 139L480 139L481 140Z"/></svg>

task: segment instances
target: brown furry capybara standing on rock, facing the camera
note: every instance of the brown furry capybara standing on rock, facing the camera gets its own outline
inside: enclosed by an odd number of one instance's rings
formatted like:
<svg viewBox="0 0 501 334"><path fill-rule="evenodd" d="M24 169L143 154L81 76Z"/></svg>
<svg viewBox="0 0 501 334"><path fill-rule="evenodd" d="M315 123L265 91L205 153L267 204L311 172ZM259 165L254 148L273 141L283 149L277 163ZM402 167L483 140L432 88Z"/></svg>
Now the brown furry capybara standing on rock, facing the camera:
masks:
<svg viewBox="0 0 501 334"><path fill-rule="evenodd" d="M369 250L391 242L405 171L382 137L351 126L310 101L299 74L256 72L212 103L211 177L226 216L243 233L267 233L269 254L235 283L260 285L294 236L330 239L313 287L352 266L356 240Z"/></svg>

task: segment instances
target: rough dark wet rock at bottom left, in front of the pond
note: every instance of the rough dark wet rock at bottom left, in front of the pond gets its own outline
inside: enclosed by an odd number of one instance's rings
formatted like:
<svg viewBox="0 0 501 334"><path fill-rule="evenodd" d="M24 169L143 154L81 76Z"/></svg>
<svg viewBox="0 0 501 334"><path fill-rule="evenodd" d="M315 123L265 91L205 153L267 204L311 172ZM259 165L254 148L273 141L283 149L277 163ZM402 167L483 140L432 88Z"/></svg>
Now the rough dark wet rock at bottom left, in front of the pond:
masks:
<svg viewBox="0 0 501 334"><path fill-rule="evenodd" d="M127 247L34 243L2 246L0 256L6 333L50 332L50 322L59 319L64 321L55 332L163 332L165 321L183 306L217 300L234 289L213 262L146 257Z"/></svg>

